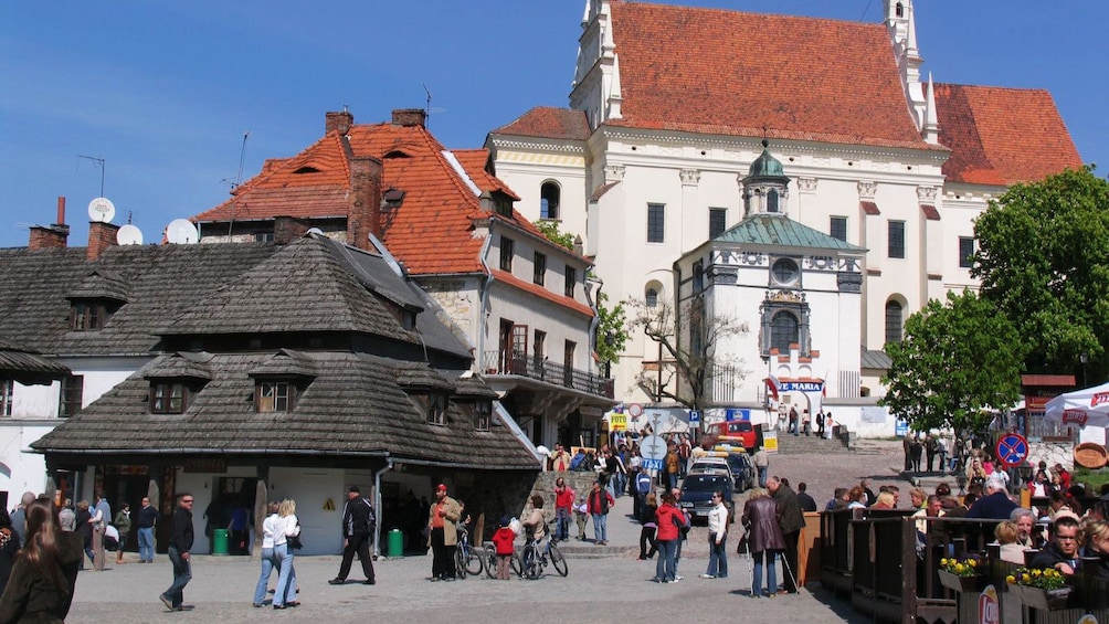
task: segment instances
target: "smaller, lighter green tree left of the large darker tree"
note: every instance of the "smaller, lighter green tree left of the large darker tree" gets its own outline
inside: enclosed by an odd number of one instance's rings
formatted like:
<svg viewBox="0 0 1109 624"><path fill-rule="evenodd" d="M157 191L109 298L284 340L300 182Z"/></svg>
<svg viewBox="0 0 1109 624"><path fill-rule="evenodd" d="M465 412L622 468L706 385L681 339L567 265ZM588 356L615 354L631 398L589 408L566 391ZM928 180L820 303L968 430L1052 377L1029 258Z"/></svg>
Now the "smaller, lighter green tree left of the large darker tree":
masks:
<svg viewBox="0 0 1109 624"><path fill-rule="evenodd" d="M893 365L878 403L917 431L984 429L990 409L1006 409L1020 396L1025 349L1017 329L969 290L948 293L946 304L928 301L886 352Z"/></svg>

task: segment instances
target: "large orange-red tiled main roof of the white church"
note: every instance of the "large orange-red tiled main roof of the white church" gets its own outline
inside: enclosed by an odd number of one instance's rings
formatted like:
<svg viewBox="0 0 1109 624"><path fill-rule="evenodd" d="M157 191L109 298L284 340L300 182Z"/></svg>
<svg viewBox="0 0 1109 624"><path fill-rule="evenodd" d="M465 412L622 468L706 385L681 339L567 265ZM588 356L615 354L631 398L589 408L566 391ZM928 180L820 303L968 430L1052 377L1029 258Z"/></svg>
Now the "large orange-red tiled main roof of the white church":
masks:
<svg viewBox="0 0 1109 624"><path fill-rule="evenodd" d="M613 0L612 33L623 119L607 123L940 149L916 130L881 24Z"/></svg>

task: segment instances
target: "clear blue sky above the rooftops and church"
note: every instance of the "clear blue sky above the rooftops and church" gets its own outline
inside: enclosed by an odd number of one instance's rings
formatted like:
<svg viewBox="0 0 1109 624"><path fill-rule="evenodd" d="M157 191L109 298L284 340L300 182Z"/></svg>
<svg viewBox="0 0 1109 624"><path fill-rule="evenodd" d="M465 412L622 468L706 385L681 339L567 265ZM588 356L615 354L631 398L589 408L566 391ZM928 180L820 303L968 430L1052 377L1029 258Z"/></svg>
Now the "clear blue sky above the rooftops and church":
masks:
<svg viewBox="0 0 1109 624"><path fill-rule="evenodd" d="M882 0L671 0L876 23ZM918 0L925 71L937 82L1042 88L1082 160L1109 171L1107 2ZM326 10L317 7L327 7ZM359 123L424 108L448 147L533 105L566 106L584 0L271 0L0 3L0 247L54 221L70 242L105 160L114 223L156 242L165 225L227 197L267 157L323 134L324 112ZM830 51L831 53L831 51Z"/></svg>

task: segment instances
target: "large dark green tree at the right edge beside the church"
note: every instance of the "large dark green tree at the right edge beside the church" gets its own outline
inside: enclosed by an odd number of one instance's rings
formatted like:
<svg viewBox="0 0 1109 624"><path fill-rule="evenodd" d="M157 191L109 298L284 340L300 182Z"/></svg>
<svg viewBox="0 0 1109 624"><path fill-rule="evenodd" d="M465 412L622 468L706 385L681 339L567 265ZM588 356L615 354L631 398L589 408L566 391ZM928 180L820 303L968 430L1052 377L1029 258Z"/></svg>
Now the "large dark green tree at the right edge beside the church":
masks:
<svg viewBox="0 0 1109 624"><path fill-rule="evenodd" d="M1025 370L1109 371L1109 182L1092 167L1011 186L975 223L971 275L1029 346Z"/></svg>

